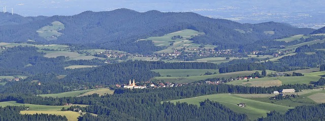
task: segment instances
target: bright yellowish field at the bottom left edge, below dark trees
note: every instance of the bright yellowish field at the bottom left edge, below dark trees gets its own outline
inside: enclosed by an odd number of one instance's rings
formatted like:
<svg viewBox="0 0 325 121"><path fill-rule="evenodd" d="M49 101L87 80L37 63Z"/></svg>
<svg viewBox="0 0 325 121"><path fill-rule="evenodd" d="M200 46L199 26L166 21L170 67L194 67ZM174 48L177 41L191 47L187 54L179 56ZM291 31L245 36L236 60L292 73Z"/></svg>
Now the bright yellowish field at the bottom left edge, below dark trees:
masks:
<svg viewBox="0 0 325 121"><path fill-rule="evenodd" d="M55 114L66 116L69 121L77 121L80 114L74 111L20 111L20 114Z"/></svg>

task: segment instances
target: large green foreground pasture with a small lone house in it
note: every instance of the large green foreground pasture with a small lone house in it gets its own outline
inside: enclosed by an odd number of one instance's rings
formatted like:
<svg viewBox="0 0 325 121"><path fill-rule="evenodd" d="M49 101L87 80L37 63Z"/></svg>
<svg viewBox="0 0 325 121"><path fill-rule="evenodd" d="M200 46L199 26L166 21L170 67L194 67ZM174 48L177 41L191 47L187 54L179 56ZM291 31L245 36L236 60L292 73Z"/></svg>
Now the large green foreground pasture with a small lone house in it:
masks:
<svg viewBox="0 0 325 121"><path fill-rule="evenodd" d="M288 106L281 106L261 101L255 101L252 99L246 99L240 96L232 95L232 94L214 94L214 95L206 95L206 96L199 96L194 98L187 98L187 99L180 99L180 100L173 100L171 102L186 102L188 104L195 104L200 106L200 102L204 101L205 99L209 99L211 101L216 101L225 105L226 107L230 108L231 110L238 112L238 113L245 113L248 115L249 119L257 119L258 117L266 117L267 113L270 111L276 110L280 113L285 113L289 109L293 109L293 107ZM239 103L245 103L246 107L239 107Z"/></svg>

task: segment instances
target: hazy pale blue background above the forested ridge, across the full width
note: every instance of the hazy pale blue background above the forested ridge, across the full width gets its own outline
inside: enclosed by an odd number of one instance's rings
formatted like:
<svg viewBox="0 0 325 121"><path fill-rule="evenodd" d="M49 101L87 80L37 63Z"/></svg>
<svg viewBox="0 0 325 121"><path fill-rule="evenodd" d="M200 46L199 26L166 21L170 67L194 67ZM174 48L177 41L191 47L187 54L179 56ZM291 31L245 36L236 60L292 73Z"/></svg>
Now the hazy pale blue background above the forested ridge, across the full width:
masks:
<svg viewBox="0 0 325 121"><path fill-rule="evenodd" d="M241 23L266 21L290 24L324 24L324 0L0 0L0 7L22 16L76 15L84 11L111 11L118 8L138 12L194 12L212 18ZM0 9L2 12L3 9Z"/></svg>

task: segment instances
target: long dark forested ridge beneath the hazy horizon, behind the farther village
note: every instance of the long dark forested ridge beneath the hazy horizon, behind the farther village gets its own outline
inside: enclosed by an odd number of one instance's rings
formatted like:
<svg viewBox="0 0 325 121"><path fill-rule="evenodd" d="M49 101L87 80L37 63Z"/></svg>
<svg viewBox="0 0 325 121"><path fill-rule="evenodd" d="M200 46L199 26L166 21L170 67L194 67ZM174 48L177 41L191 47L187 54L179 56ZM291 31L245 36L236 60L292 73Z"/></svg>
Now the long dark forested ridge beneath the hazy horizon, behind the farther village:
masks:
<svg viewBox="0 0 325 121"><path fill-rule="evenodd" d="M64 24L59 29L60 36L49 41L40 37L38 29L52 25L53 21ZM247 44L257 40L272 40L289 35L309 34L311 28L295 28L288 24L266 22L260 24L241 24L238 22L213 19L190 12L159 11L136 12L128 9L117 9L105 12L86 11L74 16L52 16L18 25L3 25L0 27L1 42L26 42L35 40L46 43L77 43L92 45L105 49L123 50L148 46L149 51L159 48L153 44L136 42L151 36L163 36L182 29L194 29L205 35L192 38L194 43L214 44L239 43ZM52 30L47 30L49 32ZM46 32L46 31L45 31ZM134 43L136 42L136 43ZM141 44L138 44L141 43ZM151 48L150 48L151 46Z"/></svg>

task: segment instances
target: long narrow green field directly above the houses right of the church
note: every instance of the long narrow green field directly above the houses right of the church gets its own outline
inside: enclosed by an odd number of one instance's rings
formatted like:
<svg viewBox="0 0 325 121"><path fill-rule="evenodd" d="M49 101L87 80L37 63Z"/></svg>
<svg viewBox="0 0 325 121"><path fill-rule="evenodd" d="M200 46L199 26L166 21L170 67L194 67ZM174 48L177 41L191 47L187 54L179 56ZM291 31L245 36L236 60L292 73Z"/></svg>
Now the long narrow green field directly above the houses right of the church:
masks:
<svg viewBox="0 0 325 121"><path fill-rule="evenodd" d="M208 78L222 78L222 77L235 78L237 76L251 75L252 73L255 73L255 71L240 71L240 72L212 74L212 75L203 75L203 76L189 76L189 77L154 77L153 79L164 80L165 82L190 83L190 82L204 80ZM262 71L259 71L259 73L262 73Z"/></svg>

